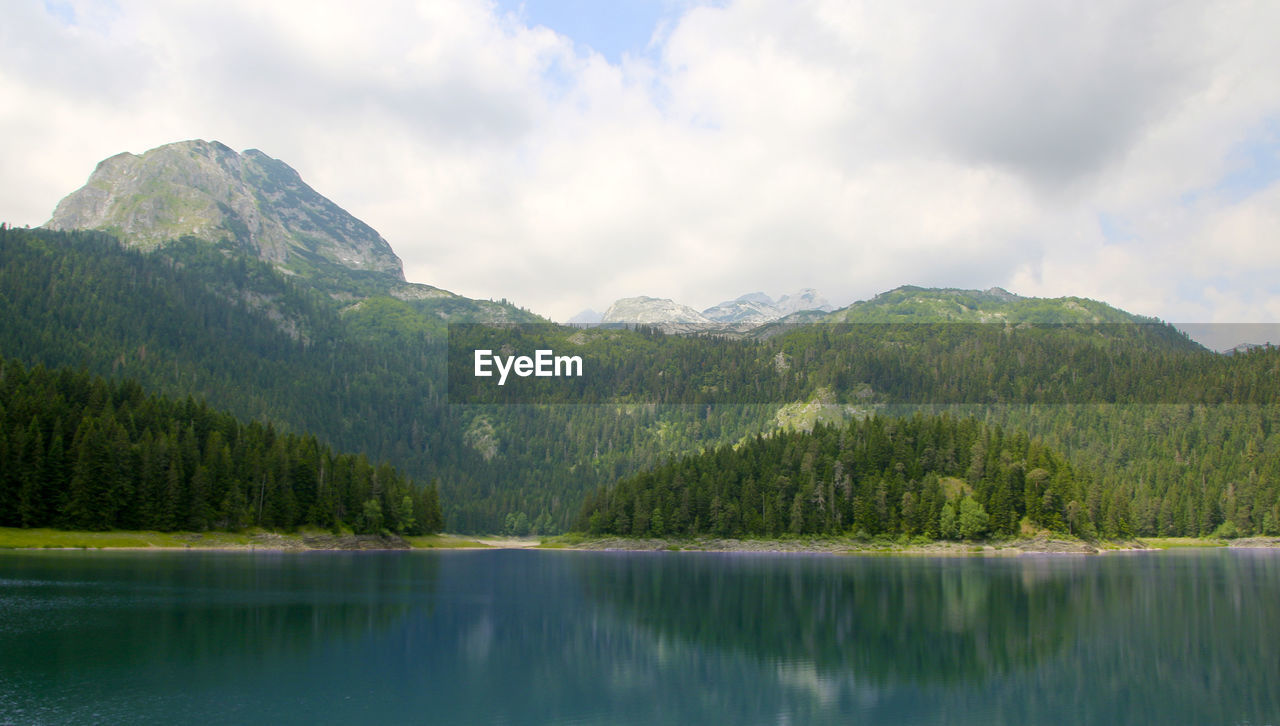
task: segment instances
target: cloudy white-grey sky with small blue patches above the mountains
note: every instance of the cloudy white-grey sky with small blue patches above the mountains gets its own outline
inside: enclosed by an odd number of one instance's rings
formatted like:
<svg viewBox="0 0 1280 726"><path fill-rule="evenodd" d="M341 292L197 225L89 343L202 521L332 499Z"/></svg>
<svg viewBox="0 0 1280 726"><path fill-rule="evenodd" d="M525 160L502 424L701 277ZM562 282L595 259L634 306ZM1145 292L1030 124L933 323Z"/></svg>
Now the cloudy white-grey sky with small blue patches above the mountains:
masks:
<svg viewBox="0 0 1280 726"><path fill-rule="evenodd" d="M0 220L261 149L406 277L563 320L815 287L1280 321L1277 3L13 0Z"/></svg>

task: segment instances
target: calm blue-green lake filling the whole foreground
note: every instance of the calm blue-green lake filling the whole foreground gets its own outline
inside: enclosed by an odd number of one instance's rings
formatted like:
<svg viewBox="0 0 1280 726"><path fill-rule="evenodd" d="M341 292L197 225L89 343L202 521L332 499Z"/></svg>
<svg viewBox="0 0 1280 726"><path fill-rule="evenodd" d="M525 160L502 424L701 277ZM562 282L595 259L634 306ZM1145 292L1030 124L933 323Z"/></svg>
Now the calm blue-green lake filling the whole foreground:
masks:
<svg viewBox="0 0 1280 726"><path fill-rule="evenodd" d="M0 723L1280 723L1280 551L6 552Z"/></svg>

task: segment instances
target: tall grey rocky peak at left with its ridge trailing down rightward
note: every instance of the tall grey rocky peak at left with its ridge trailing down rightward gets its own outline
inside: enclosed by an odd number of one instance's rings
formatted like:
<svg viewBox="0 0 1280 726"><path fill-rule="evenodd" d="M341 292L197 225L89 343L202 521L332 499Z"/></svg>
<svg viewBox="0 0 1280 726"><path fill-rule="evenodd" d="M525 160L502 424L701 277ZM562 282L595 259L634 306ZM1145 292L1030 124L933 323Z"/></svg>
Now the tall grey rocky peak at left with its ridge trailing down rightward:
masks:
<svg viewBox="0 0 1280 726"><path fill-rule="evenodd" d="M227 255L268 262L342 302L344 312L387 318L394 310L415 329L443 333L454 321L545 321L506 301L406 282L387 239L307 186L288 164L256 149L237 154L218 141L179 141L99 163L88 182L58 204L45 228L105 232L127 248L169 256L184 255L174 242L197 239ZM273 310L285 327L297 324L270 296L224 292Z"/></svg>

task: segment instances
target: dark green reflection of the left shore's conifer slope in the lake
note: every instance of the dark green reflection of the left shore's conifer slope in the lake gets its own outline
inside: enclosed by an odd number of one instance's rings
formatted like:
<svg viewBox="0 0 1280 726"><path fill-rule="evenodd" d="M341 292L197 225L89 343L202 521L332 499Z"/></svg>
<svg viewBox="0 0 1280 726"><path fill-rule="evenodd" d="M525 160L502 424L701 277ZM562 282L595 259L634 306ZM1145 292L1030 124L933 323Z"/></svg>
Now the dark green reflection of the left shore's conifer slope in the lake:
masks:
<svg viewBox="0 0 1280 726"><path fill-rule="evenodd" d="M52 554L52 557L50 557ZM381 631L430 602L438 563L374 553L45 553L6 560L23 670L270 659ZM321 566L317 561L323 558Z"/></svg>

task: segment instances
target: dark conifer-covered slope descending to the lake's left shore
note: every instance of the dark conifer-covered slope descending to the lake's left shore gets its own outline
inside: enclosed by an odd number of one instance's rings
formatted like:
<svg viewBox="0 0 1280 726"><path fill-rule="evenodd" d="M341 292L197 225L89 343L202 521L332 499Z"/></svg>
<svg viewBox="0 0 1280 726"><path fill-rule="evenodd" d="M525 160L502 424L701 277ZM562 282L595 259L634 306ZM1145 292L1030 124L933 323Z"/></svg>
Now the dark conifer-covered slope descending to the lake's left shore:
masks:
<svg viewBox="0 0 1280 726"><path fill-rule="evenodd" d="M434 485L192 398L0 360L0 526L424 534Z"/></svg>

